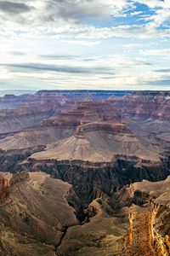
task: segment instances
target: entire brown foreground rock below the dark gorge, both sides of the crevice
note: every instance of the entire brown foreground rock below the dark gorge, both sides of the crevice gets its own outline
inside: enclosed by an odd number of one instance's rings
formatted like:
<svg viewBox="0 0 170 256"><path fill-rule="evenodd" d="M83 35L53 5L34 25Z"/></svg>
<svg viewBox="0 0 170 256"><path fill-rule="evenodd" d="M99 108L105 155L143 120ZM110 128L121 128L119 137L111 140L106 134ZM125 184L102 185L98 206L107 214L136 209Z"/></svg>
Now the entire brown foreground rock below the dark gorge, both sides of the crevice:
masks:
<svg viewBox="0 0 170 256"><path fill-rule="evenodd" d="M0 255L168 256L169 185L167 177L133 183L110 195L96 190L80 223L73 208L80 202L70 184L42 172L4 172Z"/></svg>

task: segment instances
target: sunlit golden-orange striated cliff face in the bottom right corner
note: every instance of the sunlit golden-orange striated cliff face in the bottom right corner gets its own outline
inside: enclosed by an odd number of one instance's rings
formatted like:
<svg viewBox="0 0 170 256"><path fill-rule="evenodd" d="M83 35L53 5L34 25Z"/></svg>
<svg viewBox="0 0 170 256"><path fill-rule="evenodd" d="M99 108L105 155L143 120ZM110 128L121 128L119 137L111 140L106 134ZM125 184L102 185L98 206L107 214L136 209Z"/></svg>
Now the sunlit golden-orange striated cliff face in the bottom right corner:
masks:
<svg viewBox="0 0 170 256"><path fill-rule="evenodd" d="M125 236L127 256L153 255L168 256L170 253L170 236L167 226L170 209L166 206L152 205L148 209L133 209L129 215L129 235ZM145 212L144 212L145 210ZM162 223L161 223L162 221ZM157 225L161 224L161 227ZM165 231L166 230L166 231Z"/></svg>

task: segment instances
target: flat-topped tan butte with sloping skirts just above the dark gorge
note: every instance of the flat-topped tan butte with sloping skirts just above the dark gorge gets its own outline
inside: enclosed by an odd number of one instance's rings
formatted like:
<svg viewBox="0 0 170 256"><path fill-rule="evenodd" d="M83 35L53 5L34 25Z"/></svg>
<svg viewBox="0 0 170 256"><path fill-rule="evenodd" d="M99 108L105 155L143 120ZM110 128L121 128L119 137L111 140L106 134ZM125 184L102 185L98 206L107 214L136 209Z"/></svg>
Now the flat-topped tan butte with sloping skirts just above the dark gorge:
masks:
<svg viewBox="0 0 170 256"><path fill-rule="evenodd" d="M112 162L118 158L137 160L143 165L157 164L161 154L139 141L124 124L94 122L80 125L71 137L48 145L45 151L31 156L37 160L82 160Z"/></svg>

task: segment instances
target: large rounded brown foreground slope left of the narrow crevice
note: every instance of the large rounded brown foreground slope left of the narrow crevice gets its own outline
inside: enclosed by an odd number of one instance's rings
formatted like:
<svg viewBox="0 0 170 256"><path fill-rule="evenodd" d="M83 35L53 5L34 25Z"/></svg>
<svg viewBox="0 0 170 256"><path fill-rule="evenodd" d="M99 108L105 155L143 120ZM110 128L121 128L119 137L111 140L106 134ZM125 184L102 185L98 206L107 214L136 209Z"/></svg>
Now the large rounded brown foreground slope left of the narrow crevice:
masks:
<svg viewBox="0 0 170 256"><path fill-rule="evenodd" d="M0 255L55 255L65 230L78 224L66 201L71 185L41 172L0 180Z"/></svg>

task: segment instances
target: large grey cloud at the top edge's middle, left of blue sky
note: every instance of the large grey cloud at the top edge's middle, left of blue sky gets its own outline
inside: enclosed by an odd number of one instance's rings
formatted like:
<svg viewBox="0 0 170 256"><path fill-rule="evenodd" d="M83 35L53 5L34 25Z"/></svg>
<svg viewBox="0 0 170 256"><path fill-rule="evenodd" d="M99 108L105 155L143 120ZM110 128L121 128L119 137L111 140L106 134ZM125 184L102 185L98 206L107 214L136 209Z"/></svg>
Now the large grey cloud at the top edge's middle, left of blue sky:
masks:
<svg viewBox="0 0 170 256"><path fill-rule="evenodd" d="M49 0L46 6L48 19L56 20L61 17L66 20L87 20L107 15L116 15L127 6L126 0Z"/></svg>

